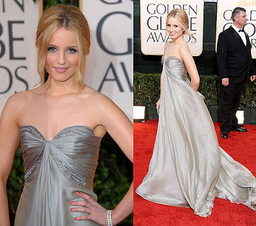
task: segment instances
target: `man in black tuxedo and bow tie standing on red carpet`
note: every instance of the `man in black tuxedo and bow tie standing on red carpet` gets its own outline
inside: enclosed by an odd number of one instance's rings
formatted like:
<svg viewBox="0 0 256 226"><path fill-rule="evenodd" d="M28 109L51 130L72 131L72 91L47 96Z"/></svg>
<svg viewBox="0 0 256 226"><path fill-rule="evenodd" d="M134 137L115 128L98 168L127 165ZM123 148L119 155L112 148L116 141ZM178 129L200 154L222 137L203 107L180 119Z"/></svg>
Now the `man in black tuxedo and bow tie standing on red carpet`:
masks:
<svg viewBox="0 0 256 226"><path fill-rule="evenodd" d="M237 124L236 112L239 107L244 84L255 80L251 43L244 32L246 10L237 7L232 12L233 24L220 33L217 44L217 61L220 73L220 127L221 137L228 138L228 132L247 132Z"/></svg>

